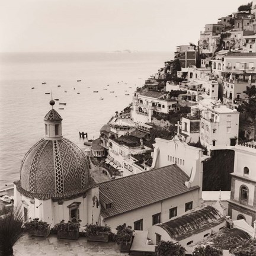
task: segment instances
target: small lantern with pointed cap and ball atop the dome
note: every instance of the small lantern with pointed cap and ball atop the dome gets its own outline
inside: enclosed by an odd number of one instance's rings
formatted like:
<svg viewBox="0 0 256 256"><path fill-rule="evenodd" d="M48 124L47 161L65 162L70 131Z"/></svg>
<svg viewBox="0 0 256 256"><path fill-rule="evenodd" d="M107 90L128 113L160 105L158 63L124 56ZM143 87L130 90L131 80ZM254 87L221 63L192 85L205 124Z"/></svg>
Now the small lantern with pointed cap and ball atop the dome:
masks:
<svg viewBox="0 0 256 256"><path fill-rule="evenodd" d="M44 117L45 135L46 140L62 139L62 117L53 109L55 105L54 100L50 100L52 109Z"/></svg>

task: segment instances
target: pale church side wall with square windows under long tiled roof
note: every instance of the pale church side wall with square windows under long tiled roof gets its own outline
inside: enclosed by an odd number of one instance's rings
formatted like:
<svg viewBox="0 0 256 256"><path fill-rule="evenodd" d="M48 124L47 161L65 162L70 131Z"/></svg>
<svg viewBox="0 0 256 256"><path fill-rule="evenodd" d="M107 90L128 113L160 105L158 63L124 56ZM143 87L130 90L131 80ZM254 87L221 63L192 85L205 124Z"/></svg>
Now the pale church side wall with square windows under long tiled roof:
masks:
<svg viewBox="0 0 256 256"><path fill-rule="evenodd" d="M185 213L185 203L190 201L193 201L193 208L199 206L199 190L193 190L190 193L175 196L162 202L107 218L101 224L107 223L107 225L115 229L117 226L126 223L126 225L134 228L134 222L143 219L143 230L148 230L152 227L153 215L161 213L161 222L167 222L169 220L169 209L177 207L177 215L183 215Z"/></svg>

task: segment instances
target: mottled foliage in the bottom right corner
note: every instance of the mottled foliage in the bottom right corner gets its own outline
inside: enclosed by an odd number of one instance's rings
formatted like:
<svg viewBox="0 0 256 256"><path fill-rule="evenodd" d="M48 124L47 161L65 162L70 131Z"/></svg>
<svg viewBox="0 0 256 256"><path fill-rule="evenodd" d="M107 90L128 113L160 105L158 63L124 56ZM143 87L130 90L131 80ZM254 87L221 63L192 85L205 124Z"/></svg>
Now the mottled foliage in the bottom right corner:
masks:
<svg viewBox="0 0 256 256"><path fill-rule="evenodd" d="M243 239L232 245L229 253L235 256L256 256L256 239Z"/></svg>

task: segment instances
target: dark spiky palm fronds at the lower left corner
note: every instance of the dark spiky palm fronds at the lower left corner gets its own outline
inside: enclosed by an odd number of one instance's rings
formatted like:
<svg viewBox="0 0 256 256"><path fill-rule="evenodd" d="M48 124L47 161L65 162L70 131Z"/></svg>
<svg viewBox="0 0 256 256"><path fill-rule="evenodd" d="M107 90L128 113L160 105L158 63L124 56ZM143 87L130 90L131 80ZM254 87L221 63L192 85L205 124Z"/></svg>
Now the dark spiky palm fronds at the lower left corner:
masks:
<svg viewBox="0 0 256 256"><path fill-rule="evenodd" d="M12 247L23 236L23 216L20 210L11 209L0 219L0 256L12 256Z"/></svg>

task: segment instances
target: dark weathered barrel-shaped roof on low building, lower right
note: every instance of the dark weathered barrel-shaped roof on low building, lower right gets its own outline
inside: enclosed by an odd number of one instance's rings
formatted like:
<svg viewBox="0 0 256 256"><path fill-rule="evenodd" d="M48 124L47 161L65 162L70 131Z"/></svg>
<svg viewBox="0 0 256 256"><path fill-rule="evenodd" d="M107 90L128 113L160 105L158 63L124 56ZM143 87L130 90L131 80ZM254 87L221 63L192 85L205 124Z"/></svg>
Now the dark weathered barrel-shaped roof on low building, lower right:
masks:
<svg viewBox="0 0 256 256"><path fill-rule="evenodd" d="M225 220L218 210L212 206L190 212L168 222L159 224L171 238L181 241L191 235L217 226Z"/></svg>

